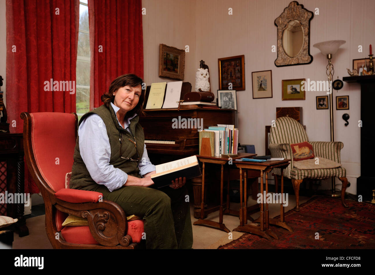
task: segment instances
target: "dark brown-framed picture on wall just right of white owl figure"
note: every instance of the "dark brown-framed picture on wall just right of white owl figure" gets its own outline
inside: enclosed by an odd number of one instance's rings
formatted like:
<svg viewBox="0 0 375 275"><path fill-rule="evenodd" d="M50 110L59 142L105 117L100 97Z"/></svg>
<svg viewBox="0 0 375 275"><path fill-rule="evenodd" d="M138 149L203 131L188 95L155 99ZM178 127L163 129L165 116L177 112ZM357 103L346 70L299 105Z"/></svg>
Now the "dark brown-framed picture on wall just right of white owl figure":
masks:
<svg viewBox="0 0 375 275"><path fill-rule="evenodd" d="M219 63L219 89L245 90L245 55L217 59Z"/></svg>

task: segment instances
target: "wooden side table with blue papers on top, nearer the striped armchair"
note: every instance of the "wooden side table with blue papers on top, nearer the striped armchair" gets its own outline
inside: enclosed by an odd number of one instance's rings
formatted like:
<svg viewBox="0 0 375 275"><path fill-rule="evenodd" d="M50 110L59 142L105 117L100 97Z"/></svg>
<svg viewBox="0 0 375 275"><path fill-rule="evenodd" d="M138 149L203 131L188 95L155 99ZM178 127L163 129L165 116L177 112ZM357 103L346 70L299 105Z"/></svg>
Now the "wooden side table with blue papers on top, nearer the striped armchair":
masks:
<svg viewBox="0 0 375 275"><path fill-rule="evenodd" d="M284 221L284 207L283 204L280 205L280 220L278 219L270 219L269 217L269 209L268 209L268 203L262 201L260 204L260 217L255 220L254 222L260 222L260 226L253 226L248 225L248 219L247 219L247 204L248 204L248 198L246 194L247 190L247 177L246 177L246 170L256 170L260 171L261 176L261 189L260 193L263 196L264 191L264 181L263 181L263 174L266 174L266 194L268 193L268 173L273 168L280 168L281 169L281 175L283 175L283 169L287 168L289 165L290 159L284 159L284 161L265 161L265 162L250 162L250 161L234 161L233 163L240 168L240 225L233 229L233 231L244 231L256 235L260 235L263 238L266 238L268 240L272 240L270 236L272 236L275 239L278 239L278 236L276 236L275 233L272 232L272 230L269 229L269 224L275 224L281 227L284 227L285 229L288 229L289 231L293 232L293 229L288 226L287 223ZM245 169L245 194L242 191L242 169ZM281 180L281 193L284 192L284 180L282 178ZM245 206L243 206L243 198Z"/></svg>

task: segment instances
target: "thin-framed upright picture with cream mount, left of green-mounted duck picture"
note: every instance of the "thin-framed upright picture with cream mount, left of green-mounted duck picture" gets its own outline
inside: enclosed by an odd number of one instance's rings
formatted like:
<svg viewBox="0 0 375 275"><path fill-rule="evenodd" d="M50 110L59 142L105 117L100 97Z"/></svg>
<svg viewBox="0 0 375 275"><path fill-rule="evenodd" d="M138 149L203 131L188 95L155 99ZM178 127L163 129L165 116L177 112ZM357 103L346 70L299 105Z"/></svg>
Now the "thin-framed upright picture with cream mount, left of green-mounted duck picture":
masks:
<svg viewBox="0 0 375 275"><path fill-rule="evenodd" d="M272 97L272 70L253 71L251 73L253 98Z"/></svg>

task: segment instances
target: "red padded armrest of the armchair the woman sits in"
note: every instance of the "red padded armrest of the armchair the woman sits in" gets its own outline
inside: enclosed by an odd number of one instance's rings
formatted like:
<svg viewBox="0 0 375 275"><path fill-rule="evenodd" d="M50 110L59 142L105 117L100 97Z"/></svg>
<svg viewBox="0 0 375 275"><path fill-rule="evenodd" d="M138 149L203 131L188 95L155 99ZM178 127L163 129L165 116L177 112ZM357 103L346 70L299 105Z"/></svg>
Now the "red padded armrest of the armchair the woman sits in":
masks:
<svg viewBox="0 0 375 275"><path fill-rule="evenodd" d="M55 193L55 197L67 202L98 202L103 198L103 193L80 189L63 188Z"/></svg>

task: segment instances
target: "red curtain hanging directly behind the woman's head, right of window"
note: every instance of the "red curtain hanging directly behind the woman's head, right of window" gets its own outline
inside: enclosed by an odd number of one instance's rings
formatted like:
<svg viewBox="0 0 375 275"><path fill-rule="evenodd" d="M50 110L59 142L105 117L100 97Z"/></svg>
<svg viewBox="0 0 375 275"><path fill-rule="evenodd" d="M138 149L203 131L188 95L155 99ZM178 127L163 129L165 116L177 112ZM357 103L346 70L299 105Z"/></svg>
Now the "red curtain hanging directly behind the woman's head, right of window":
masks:
<svg viewBox="0 0 375 275"><path fill-rule="evenodd" d="M143 78L141 0L89 0L90 110L111 82L126 73Z"/></svg>

